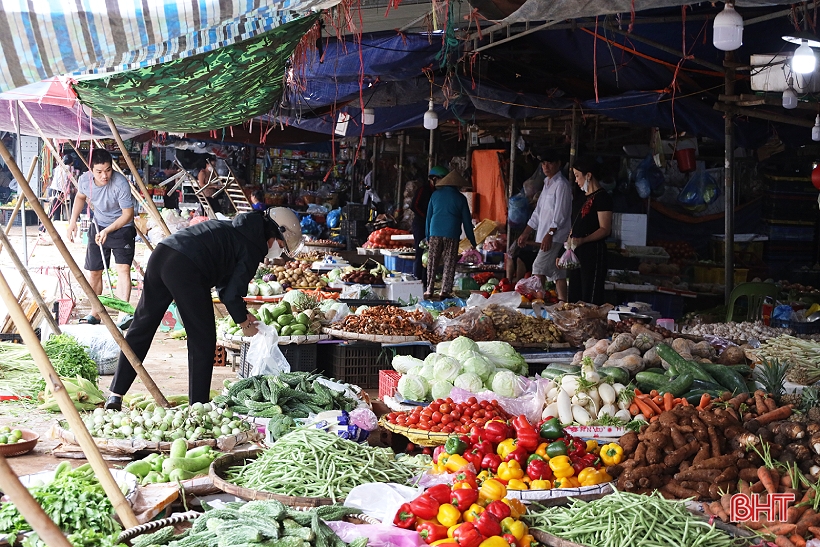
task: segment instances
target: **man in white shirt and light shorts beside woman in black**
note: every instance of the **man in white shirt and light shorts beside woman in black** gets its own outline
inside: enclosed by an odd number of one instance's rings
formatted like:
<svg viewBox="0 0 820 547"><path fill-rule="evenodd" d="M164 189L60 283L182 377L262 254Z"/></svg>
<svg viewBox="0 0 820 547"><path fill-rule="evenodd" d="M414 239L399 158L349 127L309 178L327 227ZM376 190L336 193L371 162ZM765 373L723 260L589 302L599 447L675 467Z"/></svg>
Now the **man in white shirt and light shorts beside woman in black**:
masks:
<svg viewBox="0 0 820 547"><path fill-rule="evenodd" d="M567 299L567 272L556 266L561 256L564 242L569 237L572 221L572 189L569 181L561 174L562 161L555 151L545 151L540 155L544 172L544 189L538 198L527 227L518 238L518 245L526 247L530 235L535 232L535 242L539 245L538 256L532 265L532 273L543 283L546 279L555 282L558 300Z"/></svg>

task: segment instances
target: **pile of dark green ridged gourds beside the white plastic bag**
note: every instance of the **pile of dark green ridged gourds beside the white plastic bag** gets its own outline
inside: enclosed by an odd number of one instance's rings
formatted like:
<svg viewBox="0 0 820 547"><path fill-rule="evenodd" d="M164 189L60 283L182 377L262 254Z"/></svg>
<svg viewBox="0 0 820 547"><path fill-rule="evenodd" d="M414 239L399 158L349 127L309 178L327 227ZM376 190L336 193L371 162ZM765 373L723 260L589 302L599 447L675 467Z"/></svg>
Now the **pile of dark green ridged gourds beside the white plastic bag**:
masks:
<svg viewBox="0 0 820 547"><path fill-rule="evenodd" d="M358 401L327 386L328 378L309 372L287 372L225 380L226 393L214 397L238 414L273 418L277 415L307 418L325 410L353 410Z"/></svg>

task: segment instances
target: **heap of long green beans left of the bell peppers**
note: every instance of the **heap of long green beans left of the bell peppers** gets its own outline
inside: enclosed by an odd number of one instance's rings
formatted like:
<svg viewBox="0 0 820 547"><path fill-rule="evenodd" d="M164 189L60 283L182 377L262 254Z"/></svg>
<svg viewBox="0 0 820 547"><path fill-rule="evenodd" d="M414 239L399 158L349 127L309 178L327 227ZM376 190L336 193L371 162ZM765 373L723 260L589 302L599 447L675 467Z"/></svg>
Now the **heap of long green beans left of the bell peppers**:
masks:
<svg viewBox="0 0 820 547"><path fill-rule="evenodd" d="M374 448L320 429L301 428L277 440L245 465L227 470L226 480L285 496L330 498L336 503L368 482L406 484L415 466L389 448Z"/></svg>

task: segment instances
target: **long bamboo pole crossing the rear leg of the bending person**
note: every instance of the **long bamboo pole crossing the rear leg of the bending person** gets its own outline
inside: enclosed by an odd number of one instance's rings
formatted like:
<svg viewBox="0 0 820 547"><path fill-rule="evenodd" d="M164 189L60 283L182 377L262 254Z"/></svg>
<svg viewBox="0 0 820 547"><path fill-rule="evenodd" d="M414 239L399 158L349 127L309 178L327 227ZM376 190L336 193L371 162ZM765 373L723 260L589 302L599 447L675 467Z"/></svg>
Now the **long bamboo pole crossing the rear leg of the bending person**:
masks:
<svg viewBox="0 0 820 547"><path fill-rule="evenodd" d="M131 363L131 366L134 367L134 370L137 372L140 380L142 383L145 384L146 389L157 402L158 405L163 407L168 407L168 400L162 394L162 392L157 387L157 384L148 374L148 371L145 370L145 367L142 366L142 362L134 353L134 350L131 349L131 346L128 342L125 341L125 337L122 335L122 331L117 328L117 325L114 324L114 321L111 319L111 316L108 315L108 312L105 310L105 307L100 302L100 299L97 297L97 293L94 292L94 289L91 288L91 285L88 283L88 280L83 275L83 271L77 265L77 262L74 260L74 257L71 256L71 253L66 247L63 238L60 237L60 233L54 227L54 224L51 222L51 219L48 218L43 206L40 205L40 201L37 200L37 196L34 194L34 191L29 186L28 182L23 179L23 173L20 171L20 167L17 166L17 162L14 161L14 158L11 157L11 154L6 148L5 144L0 141L0 157L6 162L6 165L11 169L12 175L19 181L20 189L29 198L29 203L31 204L32 209L40 218L40 221L43 223L48 234L51 236L52 241L54 241L54 245L57 247L57 250L60 251L60 254L63 256L63 259L66 262L66 265L71 270L71 273L74 274L74 278L77 280L77 283L80 284L80 287L85 292L88 299L91 301L91 309L98 312L100 314L100 319L102 320L103 324L108 328L108 332L114 337L114 340L117 341L117 345L120 346L120 350L122 350L125 357ZM34 201L32 201L32 198ZM15 299L15 302L17 300ZM30 327L31 325L29 325ZM18 330L19 330L18 325ZM32 331L34 332L34 331ZM39 341L37 342L39 345ZM28 345L28 344L27 344ZM73 408L73 407L72 407Z"/></svg>

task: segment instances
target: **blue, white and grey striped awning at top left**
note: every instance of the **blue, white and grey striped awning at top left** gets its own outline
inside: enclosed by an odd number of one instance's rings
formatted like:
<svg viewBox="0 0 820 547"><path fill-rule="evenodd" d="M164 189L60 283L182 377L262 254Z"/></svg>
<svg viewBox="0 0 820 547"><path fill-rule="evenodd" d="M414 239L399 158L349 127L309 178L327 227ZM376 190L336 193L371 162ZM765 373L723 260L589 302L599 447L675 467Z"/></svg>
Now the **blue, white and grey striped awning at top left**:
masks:
<svg viewBox="0 0 820 547"><path fill-rule="evenodd" d="M0 92L212 51L338 0L0 0Z"/></svg>

